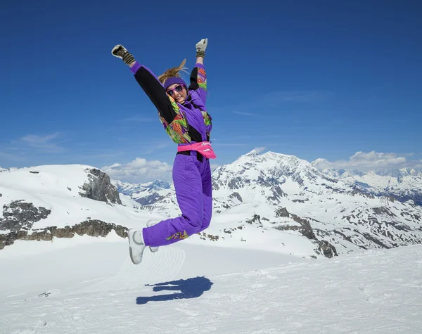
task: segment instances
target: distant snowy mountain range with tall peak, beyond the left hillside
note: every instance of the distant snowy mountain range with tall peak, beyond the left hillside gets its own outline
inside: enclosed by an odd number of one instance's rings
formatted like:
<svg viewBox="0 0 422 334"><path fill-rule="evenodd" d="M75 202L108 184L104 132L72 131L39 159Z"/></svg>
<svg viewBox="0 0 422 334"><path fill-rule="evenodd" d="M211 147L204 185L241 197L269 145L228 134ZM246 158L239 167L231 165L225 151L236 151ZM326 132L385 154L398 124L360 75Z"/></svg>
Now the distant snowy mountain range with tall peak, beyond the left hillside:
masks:
<svg viewBox="0 0 422 334"><path fill-rule="evenodd" d="M276 236L274 229L290 231L308 238L314 252L326 256L421 242L421 171L341 173L315 165L317 161L293 155L260 155L252 150L215 169L213 220L217 227L210 227L209 238L265 243ZM171 185L133 189L130 193L126 188L127 194L143 209L164 212L167 217L178 214ZM249 236L248 231L260 233ZM292 234L289 238L278 245L290 243Z"/></svg>

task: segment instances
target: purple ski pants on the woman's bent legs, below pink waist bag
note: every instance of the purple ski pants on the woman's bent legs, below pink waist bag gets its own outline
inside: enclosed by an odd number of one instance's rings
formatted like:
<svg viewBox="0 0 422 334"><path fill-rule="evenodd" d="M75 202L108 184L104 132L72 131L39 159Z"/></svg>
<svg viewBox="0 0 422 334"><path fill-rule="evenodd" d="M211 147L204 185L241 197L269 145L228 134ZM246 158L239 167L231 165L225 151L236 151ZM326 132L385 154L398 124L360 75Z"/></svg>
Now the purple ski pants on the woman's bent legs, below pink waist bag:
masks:
<svg viewBox="0 0 422 334"><path fill-rule="evenodd" d="M210 160L177 154L173 164L173 182L181 216L165 219L143 229L147 246L158 247L176 243L205 230L212 217L212 183Z"/></svg>

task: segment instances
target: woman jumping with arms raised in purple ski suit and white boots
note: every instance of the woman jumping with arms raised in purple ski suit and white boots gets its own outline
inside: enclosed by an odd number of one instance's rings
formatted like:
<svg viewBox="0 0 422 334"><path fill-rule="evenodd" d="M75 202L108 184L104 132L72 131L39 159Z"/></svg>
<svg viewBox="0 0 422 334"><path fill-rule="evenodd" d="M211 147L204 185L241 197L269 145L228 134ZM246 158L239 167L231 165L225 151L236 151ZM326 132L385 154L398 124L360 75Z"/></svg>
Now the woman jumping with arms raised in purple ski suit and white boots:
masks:
<svg viewBox="0 0 422 334"><path fill-rule="evenodd" d="M199 233L210 225L212 183L210 159L216 158L210 144L211 117L205 109L207 75L204 67L207 39L196 44L196 64L188 86L180 77L186 59L177 67L156 77L138 63L127 49L116 45L111 53L134 73L136 82L150 98L170 138L178 144L173 163L173 183L181 216L155 222L146 228L129 229L129 255L134 264L142 261L143 250L152 252Z"/></svg>

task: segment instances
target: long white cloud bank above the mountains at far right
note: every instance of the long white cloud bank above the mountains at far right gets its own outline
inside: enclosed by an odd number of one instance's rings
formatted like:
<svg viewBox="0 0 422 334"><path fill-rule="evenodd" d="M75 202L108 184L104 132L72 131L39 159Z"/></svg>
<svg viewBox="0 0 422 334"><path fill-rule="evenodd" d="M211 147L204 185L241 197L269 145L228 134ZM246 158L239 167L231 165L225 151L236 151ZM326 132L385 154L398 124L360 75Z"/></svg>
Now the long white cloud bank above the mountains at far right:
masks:
<svg viewBox="0 0 422 334"><path fill-rule="evenodd" d="M408 160L406 156L413 153L381 153L371 151L368 153L357 152L349 160L337 160L330 162L326 159L317 159L313 162L314 167L319 169L382 169L382 168L421 168L422 160Z"/></svg>

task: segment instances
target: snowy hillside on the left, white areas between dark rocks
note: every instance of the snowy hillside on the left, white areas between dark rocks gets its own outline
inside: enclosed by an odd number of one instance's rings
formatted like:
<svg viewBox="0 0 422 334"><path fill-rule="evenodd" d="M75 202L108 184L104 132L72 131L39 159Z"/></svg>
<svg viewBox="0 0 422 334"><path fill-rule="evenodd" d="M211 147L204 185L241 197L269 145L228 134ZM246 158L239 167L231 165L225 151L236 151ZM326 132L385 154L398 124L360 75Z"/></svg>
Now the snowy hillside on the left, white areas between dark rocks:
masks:
<svg viewBox="0 0 422 334"><path fill-rule="evenodd" d="M162 218L160 214L140 211L138 203L129 196L119 195L117 190L115 193L122 204L113 203L110 198L102 201L81 195L84 193L84 184L92 183L91 179L94 181L98 179L89 172L91 169L93 167L86 165L48 165L1 172L0 206L3 207L3 212L0 215L0 226L4 227L8 223L13 225L13 219L16 217L25 222L24 227L31 230L44 229L48 226L64 228L87 219L98 219L108 224L126 227L145 226L148 219ZM107 194L110 189L107 189L106 181L90 190L98 192L98 187L101 189L101 186ZM26 216L25 212L20 214L23 205L12 209L13 203L15 205L27 203ZM9 217L13 211L14 215ZM44 214L46 217L40 218L41 212L46 212ZM0 233L8 232L8 229L0 231Z"/></svg>

